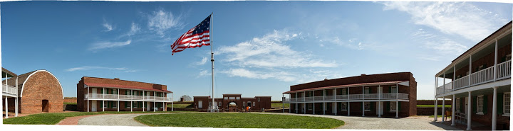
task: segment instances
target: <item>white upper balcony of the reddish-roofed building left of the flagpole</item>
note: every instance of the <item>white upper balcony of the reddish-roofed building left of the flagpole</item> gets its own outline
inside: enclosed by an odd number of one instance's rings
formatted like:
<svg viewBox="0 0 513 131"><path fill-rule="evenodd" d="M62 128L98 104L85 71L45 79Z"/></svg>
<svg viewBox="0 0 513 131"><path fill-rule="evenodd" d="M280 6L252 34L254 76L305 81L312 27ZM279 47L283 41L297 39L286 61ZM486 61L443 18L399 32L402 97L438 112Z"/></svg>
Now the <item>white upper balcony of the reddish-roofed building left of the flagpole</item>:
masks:
<svg viewBox="0 0 513 131"><path fill-rule="evenodd" d="M133 96L133 95L118 95L118 94L102 94L102 93L89 93L85 95L86 100L98 99L107 101L117 100L135 100L135 101L171 101L171 98L158 97L158 96Z"/></svg>

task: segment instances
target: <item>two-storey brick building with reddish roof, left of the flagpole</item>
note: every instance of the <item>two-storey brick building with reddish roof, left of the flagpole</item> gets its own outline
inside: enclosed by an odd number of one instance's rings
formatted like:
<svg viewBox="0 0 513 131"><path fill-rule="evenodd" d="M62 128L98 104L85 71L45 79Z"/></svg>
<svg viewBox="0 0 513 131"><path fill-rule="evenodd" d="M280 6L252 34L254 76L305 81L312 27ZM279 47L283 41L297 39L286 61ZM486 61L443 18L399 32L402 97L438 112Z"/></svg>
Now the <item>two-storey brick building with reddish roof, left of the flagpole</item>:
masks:
<svg viewBox="0 0 513 131"><path fill-rule="evenodd" d="M77 84L79 111L165 111L167 103L172 104L172 91L162 84L88 76Z"/></svg>

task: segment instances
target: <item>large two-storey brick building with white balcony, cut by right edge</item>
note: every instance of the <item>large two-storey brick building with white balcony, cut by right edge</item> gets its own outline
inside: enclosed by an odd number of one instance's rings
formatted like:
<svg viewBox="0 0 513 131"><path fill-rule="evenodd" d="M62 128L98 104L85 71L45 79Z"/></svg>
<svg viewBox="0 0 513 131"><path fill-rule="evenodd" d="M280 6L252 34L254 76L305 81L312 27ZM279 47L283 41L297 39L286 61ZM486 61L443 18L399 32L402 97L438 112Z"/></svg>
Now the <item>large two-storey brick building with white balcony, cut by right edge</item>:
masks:
<svg viewBox="0 0 513 131"><path fill-rule="evenodd" d="M510 130L511 58L509 22L435 74L435 98L454 100L435 113L452 112L450 125L467 130Z"/></svg>

